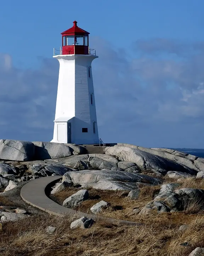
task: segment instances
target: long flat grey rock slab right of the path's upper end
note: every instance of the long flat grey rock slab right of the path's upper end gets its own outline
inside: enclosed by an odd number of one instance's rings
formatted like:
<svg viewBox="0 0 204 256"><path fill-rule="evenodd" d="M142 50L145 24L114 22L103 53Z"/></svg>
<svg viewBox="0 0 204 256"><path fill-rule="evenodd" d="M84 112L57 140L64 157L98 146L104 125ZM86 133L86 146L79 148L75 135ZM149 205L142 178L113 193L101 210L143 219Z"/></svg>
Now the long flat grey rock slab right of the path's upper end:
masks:
<svg viewBox="0 0 204 256"><path fill-rule="evenodd" d="M134 190L137 182L157 185L162 181L147 175L114 170L83 170L68 172L74 185L104 190Z"/></svg>

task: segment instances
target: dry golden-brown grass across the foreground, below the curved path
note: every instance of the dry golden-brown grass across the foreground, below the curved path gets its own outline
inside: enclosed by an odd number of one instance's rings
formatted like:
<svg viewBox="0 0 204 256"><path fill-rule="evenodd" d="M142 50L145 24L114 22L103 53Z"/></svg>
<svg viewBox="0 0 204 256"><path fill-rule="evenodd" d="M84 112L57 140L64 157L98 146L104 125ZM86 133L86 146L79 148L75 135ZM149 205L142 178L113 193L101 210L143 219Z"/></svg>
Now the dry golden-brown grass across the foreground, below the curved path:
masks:
<svg viewBox="0 0 204 256"><path fill-rule="evenodd" d="M175 215L174 219L178 217ZM1 255L186 256L204 242L202 216L189 218L188 215L188 221L179 223L189 224L183 232L167 215L150 215L140 228L96 223L90 229L71 230L71 221L69 217L47 215L5 223L0 240ZM56 232L47 234L48 225L56 226ZM181 246L182 242L189 245Z"/></svg>

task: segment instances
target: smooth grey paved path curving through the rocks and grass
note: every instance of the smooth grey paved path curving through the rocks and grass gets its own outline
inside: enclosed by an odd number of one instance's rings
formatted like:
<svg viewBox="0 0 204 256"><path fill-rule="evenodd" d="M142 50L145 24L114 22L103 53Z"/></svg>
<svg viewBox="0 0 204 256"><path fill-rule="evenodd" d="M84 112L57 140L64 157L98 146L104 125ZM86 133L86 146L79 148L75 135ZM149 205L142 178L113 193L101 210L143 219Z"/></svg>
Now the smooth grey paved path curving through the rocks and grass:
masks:
<svg viewBox="0 0 204 256"><path fill-rule="evenodd" d="M26 203L37 207L47 213L55 214L58 216L63 216L68 214L70 216L77 215L77 217L86 216L87 218L92 218L94 220L100 219L109 223L120 223L123 225L142 225L136 222L131 222L128 220L119 220L101 217L99 215L87 214L79 212L52 201L49 197L46 196L46 188L51 187L51 183L55 183L57 180L60 180L62 176L47 176L38 178L36 180L28 182L21 188L21 197Z"/></svg>

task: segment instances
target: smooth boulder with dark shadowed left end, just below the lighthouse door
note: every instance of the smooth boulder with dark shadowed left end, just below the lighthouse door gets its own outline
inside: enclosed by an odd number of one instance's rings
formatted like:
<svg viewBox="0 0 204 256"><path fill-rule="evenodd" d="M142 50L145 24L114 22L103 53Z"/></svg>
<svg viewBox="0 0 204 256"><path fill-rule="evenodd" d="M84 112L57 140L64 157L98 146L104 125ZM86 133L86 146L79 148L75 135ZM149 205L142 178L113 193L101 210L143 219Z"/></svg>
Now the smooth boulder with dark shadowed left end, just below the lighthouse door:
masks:
<svg viewBox="0 0 204 256"><path fill-rule="evenodd" d="M66 144L53 142L33 142L35 145L35 159L45 160L52 158L63 158L72 155Z"/></svg>

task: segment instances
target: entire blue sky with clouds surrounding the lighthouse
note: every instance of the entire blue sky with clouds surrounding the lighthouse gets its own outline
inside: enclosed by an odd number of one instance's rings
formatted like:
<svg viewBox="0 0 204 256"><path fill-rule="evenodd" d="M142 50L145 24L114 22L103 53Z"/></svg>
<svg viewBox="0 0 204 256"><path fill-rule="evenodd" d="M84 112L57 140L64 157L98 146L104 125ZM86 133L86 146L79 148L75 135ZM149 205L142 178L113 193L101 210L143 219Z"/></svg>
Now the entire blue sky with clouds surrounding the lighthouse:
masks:
<svg viewBox="0 0 204 256"><path fill-rule="evenodd" d="M1 138L50 141L58 63L72 26L90 32L100 137L204 148L204 2L1 1Z"/></svg>

